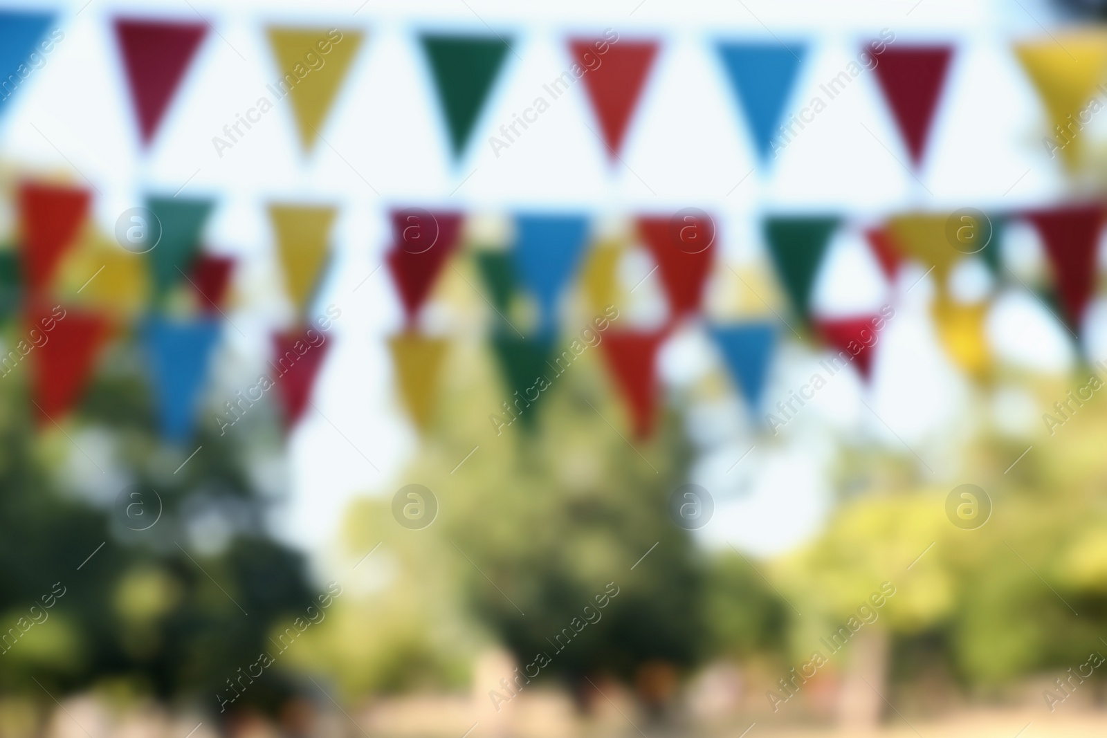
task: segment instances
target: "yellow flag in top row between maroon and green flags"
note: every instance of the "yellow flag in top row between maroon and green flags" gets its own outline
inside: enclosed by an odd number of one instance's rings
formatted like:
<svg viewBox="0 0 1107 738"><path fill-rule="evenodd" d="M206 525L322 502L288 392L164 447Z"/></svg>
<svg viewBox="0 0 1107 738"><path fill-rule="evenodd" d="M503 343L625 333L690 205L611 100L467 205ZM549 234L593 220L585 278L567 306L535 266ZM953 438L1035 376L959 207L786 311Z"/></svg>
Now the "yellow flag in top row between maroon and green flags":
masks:
<svg viewBox="0 0 1107 738"><path fill-rule="evenodd" d="M310 152L363 34L351 29L270 27L267 35L281 77L278 89L291 97L300 144Z"/></svg>

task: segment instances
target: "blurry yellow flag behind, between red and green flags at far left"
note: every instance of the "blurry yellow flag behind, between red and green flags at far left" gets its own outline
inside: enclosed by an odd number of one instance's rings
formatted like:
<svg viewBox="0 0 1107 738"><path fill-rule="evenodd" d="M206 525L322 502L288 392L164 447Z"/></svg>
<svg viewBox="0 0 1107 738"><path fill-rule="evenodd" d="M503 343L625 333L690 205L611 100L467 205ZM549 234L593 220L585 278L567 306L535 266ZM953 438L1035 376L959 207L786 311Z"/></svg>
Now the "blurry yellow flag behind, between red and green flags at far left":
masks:
<svg viewBox="0 0 1107 738"><path fill-rule="evenodd" d="M149 277L142 256L110 241L89 224L62 257L52 289L75 304L134 318L146 305Z"/></svg>

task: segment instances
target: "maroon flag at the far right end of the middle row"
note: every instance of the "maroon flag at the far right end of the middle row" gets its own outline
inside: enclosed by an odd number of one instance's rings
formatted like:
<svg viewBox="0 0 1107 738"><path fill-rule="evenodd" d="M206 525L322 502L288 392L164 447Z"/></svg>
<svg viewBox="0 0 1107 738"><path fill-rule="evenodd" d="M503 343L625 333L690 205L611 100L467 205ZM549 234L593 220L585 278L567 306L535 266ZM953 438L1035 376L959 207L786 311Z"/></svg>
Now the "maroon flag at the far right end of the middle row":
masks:
<svg viewBox="0 0 1107 738"><path fill-rule="evenodd" d="M1053 264L1057 299L1073 330L1080 325L1096 280L1096 250L1104 210L1077 205L1027 212Z"/></svg>

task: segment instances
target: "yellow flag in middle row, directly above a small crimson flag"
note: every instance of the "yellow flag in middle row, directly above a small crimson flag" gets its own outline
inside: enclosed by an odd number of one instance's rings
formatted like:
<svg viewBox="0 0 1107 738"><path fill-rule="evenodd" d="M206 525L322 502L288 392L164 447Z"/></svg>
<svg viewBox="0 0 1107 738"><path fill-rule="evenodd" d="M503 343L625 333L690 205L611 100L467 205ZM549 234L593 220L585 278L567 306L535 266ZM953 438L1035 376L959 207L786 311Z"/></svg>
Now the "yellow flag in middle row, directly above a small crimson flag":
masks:
<svg viewBox="0 0 1107 738"><path fill-rule="evenodd" d="M330 256L334 208L270 205L269 221L277 237L277 257L284 272L284 292L303 315Z"/></svg>

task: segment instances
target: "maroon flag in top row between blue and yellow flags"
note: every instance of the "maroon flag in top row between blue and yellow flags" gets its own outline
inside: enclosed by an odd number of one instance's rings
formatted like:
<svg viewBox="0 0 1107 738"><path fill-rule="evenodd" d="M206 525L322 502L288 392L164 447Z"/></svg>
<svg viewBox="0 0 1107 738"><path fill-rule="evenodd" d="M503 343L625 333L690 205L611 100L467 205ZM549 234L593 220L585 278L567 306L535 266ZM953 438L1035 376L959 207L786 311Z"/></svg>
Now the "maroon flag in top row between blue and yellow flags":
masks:
<svg viewBox="0 0 1107 738"><path fill-rule="evenodd" d="M915 166L922 160L953 48L889 46L880 54L877 81Z"/></svg>

